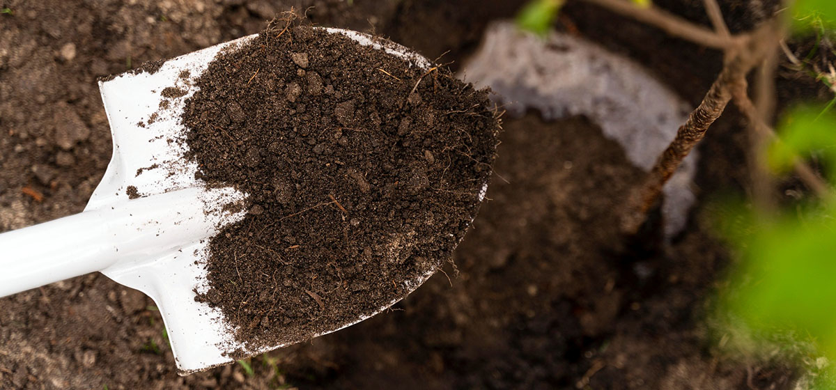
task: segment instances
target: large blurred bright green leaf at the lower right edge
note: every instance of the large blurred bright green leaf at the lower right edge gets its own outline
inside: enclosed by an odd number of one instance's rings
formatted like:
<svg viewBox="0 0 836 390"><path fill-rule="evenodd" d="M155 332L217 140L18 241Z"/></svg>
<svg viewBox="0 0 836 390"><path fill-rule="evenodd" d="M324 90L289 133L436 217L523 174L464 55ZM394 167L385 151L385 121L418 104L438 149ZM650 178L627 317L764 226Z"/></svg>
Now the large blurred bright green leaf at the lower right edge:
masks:
<svg viewBox="0 0 836 390"><path fill-rule="evenodd" d="M836 221L789 217L763 225L748 243L730 308L763 331L812 335L836 357Z"/></svg>

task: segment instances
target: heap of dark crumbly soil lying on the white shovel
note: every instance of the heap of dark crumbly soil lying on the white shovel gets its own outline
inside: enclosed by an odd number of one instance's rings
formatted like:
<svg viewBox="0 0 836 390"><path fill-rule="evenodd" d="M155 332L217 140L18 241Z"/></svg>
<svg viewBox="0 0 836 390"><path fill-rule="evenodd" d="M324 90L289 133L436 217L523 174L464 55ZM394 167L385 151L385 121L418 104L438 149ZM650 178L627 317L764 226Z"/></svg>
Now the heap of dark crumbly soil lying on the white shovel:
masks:
<svg viewBox="0 0 836 390"><path fill-rule="evenodd" d="M477 213L498 119L487 91L446 69L294 26L219 54L196 85L187 157L207 185L248 194L247 216L210 242L196 300L248 348L390 306L451 259Z"/></svg>

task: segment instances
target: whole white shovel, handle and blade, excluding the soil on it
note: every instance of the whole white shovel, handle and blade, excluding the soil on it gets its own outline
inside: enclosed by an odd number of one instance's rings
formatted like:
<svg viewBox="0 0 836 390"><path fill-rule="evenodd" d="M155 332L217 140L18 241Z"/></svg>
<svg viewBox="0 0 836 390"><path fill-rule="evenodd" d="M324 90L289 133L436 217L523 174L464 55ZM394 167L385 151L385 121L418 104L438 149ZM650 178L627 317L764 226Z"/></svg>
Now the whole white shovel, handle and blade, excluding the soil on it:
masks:
<svg viewBox="0 0 836 390"><path fill-rule="evenodd" d="M363 33L326 30L414 66L430 66L426 58L400 45L384 47ZM174 142L186 132L179 117L185 99L196 91L190 80L199 77L222 48L256 37L170 59L152 74L125 73L99 82L113 134L113 159L81 214L0 234L0 296L100 271L156 302L181 374L232 362L227 352L239 347L249 355L281 347L247 349L232 339L219 309L195 301L194 290L204 292L208 284L206 271L198 265L206 261L208 239L244 217L245 212L225 211L223 205L247 195L232 187L207 189L195 178L197 166L183 157L186 146ZM185 70L189 76L184 79ZM170 99L167 114L149 120L159 110L161 91L172 86L187 93ZM142 197L129 199L129 187ZM413 291L429 276L400 282Z"/></svg>

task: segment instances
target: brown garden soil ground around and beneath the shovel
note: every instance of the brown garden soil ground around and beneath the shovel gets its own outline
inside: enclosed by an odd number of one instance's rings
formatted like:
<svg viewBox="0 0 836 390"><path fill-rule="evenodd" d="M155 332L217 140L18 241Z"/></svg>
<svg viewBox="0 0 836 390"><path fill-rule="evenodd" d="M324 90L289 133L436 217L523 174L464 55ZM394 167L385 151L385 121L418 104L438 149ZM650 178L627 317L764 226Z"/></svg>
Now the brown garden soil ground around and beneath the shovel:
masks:
<svg viewBox="0 0 836 390"><path fill-rule="evenodd" d="M461 63L515 1L7 1L0 15L0 231L77 213L110 160L97 77L256 33L291 6ZM701 2L670 0L707 23ZM746 28L749 2L723 2ZM762 3L762 2L752 2ZM750 15L750 13L752 15ZM748 16L747 16L748 15ZM711 51L588 5L560 28L650 66L691 103ZM751 23L749 23L751 24ZM453 67L456 67L453 63ZM583 118L507 119L496 175L451 268L366 322L242 365L178 377L159 313L89 275L0 299L2 388L787 388L782 362L718 352L703 319L730 256L707 200L747 186L737 113L701 146L701 203L670 248L615 247L612 210L639 172Z"/></svg>

